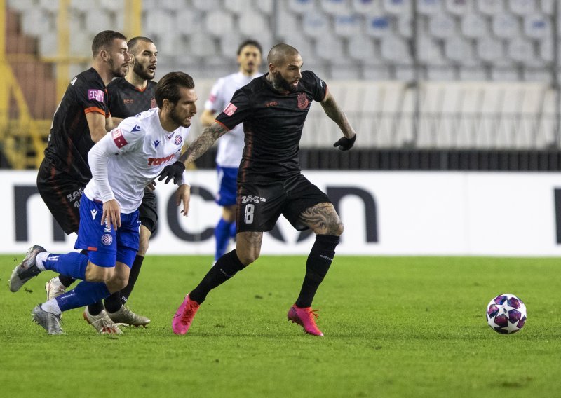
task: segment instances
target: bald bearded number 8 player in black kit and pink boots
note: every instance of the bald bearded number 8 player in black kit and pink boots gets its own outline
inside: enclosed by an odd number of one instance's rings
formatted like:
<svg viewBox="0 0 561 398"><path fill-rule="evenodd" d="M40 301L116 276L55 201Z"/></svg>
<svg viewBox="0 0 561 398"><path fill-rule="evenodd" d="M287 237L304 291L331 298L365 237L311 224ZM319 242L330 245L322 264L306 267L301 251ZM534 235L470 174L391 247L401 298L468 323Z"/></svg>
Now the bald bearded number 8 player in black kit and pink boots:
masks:
<svg viewBox="0 0 561 398"><path fill-rule="evenodd" d="M313 296L333 261L343 224L327 195L301 173L298 151L302 128L312 100L343 136L334 146L351 149L356 132L344 112L312 71L301 71L302 57L287 44L273 46L267 55L269 73L255 78L234 93L231 102L209 128L189 146L180 161L165 167L159 179L181 178L185 168L224 134L243 123L245 148L238 172L236 249L224 254L203 280L191 290L172 321L175 334L185 334L210 290L218 287L259 257L264 231L270 231L280 214L297 228L316 233L302 289L288 311L288 320L304 332L323 336L318 329Z"/></svg>

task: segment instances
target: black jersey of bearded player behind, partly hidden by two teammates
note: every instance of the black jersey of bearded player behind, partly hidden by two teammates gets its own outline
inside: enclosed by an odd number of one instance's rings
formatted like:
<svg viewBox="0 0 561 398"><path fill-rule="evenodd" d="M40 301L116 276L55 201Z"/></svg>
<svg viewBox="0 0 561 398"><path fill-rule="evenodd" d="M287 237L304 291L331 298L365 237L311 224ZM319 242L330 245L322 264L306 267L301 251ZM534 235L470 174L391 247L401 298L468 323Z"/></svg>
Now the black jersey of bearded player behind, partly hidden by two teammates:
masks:
<svg viewBox="0 0 561 398"><path fill-rule="evenodd" d="M109 111L116 118L129 118L147 111L156 105L156 82L148 81L144 90L128 83L125 78L116 78L107 85Z"/></svg>

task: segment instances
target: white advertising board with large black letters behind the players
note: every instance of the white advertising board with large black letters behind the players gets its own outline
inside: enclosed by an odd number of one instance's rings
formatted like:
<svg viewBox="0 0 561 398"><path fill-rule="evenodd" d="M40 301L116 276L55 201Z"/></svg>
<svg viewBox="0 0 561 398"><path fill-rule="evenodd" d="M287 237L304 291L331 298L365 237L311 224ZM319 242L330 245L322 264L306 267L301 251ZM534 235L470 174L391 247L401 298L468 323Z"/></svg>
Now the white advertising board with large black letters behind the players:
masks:
<svg viewBox="0 0 561 398"><path fill-rule="evenodd" d="M340 199L337 207L346 229L337 249L339 254L561 255L554 200L555 188L561 189L561 173L304 174L328 191L332 200ZM1 253L25 252L32 244L53 252L72 249L72 236L62 242L53 240L52 217L39 194L29 196L27 202L23 197L15 200L16 191L33 191L35 178L36 172L0 172L4 187L4 195L0 195L0 208L4 210ZM158 234L151 240L151 254L213 253L214 239L209 228L215 226L220 213L210 198L215 191L215 172L191 172L190 179L194 192L187 218L175 208L173 187L158 185L160 223ZM18 214L16 207L20 209ZM27 219L23 209L27 210ZM16 229L21 234L26 226L27 235L18 240ZM313 237L298 242L299 233L282 217L278 228L284 241L267 233L263 254L309 252ZM204 233L209 237L189 241Z"/></svg>

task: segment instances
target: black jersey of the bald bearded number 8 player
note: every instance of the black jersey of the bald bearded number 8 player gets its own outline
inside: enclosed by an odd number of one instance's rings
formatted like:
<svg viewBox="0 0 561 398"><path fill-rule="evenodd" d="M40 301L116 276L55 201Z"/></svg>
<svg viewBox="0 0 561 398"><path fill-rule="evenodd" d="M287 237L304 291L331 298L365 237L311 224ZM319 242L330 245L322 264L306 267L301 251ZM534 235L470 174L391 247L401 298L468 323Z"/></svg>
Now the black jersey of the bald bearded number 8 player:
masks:
<svg viewBox="0 0 561 398"><path fill-rule="evenodd" d="M322 101L327 85L312 71L303 71L297 90L281 94L266 75L234 92L216 118L231 130L243 123L245 146L238 181L285 179L300 172L298 151L312 100ZM228 134L228 133L227 133Z"/></svg>

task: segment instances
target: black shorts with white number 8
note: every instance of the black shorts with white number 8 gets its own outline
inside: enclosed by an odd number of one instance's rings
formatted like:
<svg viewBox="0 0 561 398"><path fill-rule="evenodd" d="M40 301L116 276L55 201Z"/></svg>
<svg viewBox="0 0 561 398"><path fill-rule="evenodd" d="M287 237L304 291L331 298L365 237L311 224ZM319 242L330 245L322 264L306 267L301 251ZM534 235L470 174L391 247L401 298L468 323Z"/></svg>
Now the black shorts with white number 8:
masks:
<svg viewBox="0 0 561 398"><path fill-rule="evenodd" d="M271 231L280 214L298 231L308 229L299 221L304 210L331 203L327 195L302 174L285 180L238 182L238 232Z"/></svg>

